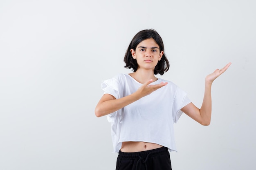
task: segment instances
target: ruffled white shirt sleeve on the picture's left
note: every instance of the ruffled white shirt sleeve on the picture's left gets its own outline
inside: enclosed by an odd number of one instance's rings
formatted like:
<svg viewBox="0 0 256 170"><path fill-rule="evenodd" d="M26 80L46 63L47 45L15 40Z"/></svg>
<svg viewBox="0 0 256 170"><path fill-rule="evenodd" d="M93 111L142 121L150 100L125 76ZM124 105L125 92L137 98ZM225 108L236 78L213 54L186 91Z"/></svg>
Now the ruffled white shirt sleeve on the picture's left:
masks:
<svg viewBox="0 0 256 170"><path fill-rule="evenodd" d="M110 94L116 99L120 98L119 82L115 78L101 81L101 89L104 91L103 94Z"/></svg>

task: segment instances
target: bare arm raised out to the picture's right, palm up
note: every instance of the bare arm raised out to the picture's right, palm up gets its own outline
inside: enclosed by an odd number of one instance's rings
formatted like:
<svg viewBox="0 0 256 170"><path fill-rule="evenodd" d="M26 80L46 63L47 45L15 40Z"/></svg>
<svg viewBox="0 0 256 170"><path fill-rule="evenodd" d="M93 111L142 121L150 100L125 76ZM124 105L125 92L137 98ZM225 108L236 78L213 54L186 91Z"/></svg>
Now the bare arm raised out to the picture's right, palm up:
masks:
<svg viewBox="0 0 256 170"><path fill-rule="evenodd" d="M189 117L202 125L209 125L211 122L211 85L213 81L229 68L228 63L222 69L216 69L213 73L205 78L204 99L201 108L197 108L193 103L187 104L181 110Z"/></svg>

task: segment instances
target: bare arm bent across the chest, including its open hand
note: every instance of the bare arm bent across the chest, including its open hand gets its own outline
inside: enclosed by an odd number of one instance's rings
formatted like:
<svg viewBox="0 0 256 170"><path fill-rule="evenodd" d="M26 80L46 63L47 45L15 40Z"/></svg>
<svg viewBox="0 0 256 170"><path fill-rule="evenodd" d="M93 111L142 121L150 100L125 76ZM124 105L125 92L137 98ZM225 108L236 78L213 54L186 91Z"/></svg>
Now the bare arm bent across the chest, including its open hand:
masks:
<svg viewBox="0 0 256 170"><path fill-rule="evenodd" d="M149 95L153 91L156 91L158 88L161 88L167 84L167 82L165 82L155 85L149 85L152 81L153 80L150 79L148 82L142 84L142 86L135 93L132 93L120 99L116 99L110 94L104 94L95 108L95 115L97 117L101 117L113 113L127 106L128 104L131 104L138 99Z"/></svg>

